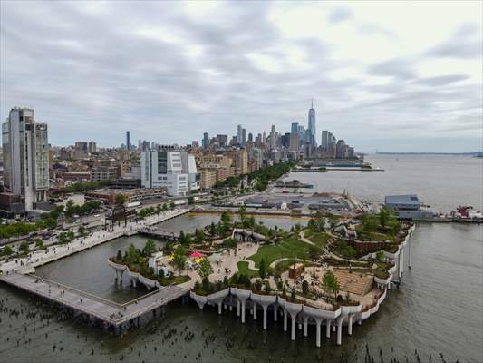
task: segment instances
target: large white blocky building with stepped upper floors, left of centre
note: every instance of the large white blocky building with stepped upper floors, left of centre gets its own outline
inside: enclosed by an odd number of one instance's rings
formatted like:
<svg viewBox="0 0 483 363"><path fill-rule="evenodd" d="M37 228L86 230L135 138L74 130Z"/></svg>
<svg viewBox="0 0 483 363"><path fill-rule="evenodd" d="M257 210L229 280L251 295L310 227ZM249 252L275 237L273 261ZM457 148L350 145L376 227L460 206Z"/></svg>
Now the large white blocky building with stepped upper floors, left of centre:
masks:
<svg viewBox="0 0 483 363"><path fill-rule="evenodd" d="M195 157L185 150L159 146L141 154L143 188L166 189L173 197L186 196L199 190L199 174Z"/></svg>

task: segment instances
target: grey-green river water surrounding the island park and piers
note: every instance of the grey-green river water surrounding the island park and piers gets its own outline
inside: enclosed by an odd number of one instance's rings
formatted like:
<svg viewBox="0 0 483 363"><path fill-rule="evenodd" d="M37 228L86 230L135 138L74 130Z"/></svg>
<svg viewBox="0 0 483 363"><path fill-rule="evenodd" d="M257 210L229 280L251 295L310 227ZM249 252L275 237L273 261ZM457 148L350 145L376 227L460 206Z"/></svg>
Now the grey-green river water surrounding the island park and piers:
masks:
<svg viewBox="0 0 483 363"><path fill-rule="evenodd" d="M481 208L481 160L375 156L370 162L385 172L297 173L294 177L314 183L319 191L346 189L371 201L382 201L387 194L414 192L435 210L450 211L463 203ZM218 219L183 216L162 223L160 228L193 231ZM283 228L299 222L278 218L263 221ZM116 287L105 260L117 250L125 250L129 243L142 246L145 240L140 236L114 240L43 266L37 273L107 299L127 301L147 291L132 289L127 283ZM292 342L283 332L281 319L269 319L264 331L260 319L247 319L242 325L234 313L218 317L214 309L199 310L192 304L171 304L167 318L157 322L155 332L151 324L124 338L111 337L72 320L51 320L47 326L45 320L27 313L49 312L52 308L38 307L34 298L0 285L0 299L4 301L0 361L339 362L346 358L363 362L367 344L376 362L379 348L384 361L392 357L401 362L405 357L417 361L416 349L423 362L429 361L430 355L432 361L441 361L440 353L446 361L482 362L482 240L481 225L419 223L413 237L413 267L405 270L401 289L392 289L375 316L361 327L354 326L352 337L344 330L342 347L335 346L333 337L323 338L322 348L315 348L313 327L308 338L298 331ZM11 309L18 309L18 317L10 316ZM187 331L194 333L190 341L184 339Z"/></svg>

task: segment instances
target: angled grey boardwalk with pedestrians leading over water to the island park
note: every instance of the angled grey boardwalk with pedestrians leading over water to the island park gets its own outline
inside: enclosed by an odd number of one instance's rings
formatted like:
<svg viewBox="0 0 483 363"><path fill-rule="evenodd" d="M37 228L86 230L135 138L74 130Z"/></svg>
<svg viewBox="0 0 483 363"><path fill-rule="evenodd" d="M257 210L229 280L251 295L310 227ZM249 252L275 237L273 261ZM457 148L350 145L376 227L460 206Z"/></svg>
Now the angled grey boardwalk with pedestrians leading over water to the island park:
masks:
<svg viewBox="0 0 483 363"><path fill-rule="evenodd" d="M125 304L118 304L34 275L10 272L8 275L0 276L0 280L18 289L24 289L65 307L87 314L89 317L101 320L114 328L121 327L124 323L140 318L140 316L188 294L187 289L168 286L150 292L139 299L131 300Z"/></svg>

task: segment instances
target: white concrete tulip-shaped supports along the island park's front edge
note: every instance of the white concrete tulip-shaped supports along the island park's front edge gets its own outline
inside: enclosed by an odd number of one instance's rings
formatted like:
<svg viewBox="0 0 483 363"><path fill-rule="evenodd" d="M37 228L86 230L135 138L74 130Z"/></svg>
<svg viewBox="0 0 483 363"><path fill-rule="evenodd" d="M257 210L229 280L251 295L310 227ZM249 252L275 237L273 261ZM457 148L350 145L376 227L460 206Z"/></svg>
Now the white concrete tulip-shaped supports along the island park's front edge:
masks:
<svg viewBox="0 0 483 363"><path fill-rule="evenodd" d="M190 298L195 300L199 309L205 305L215 305L218 314L223 313L223 308L232 311L237 307L237 317L242 324L246 322L246 310L257 319L258 312L262 313L263 328L267 326L267 316L274 314L274 321L281 316L284 319L284 331L288 330L288 319L291 320L290 335L295 340L295 329L304 329L304 337L308 336L308 325L315 325L315 345L321 346L321 329L325 326L325 337L331 338L331 330L336 332L337 345L342 344L343 328L347 328L347 334L353 334L353 324L361 325L362 320L369 318L377 312L383 299L386 297L386 290L373 303L372 307L362 310L362 305L349 305L335 307L333 310L322 309L306 302L292 302L279 295L259 294L248 289L227 288L207 296L198 295L191 291ZM332 329L331 329L332 328Z"/></svg>

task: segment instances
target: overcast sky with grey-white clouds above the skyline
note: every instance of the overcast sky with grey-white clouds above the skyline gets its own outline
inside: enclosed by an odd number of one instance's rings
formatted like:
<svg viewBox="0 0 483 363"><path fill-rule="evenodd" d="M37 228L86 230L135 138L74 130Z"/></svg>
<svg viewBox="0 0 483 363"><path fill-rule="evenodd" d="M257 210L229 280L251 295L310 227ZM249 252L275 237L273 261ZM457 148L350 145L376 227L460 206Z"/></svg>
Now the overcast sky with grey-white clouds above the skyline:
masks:
<svg viewBox="0 0 483 363"><path fill-rule="evenodd" d="M306 125L358 151L482 149L482 3L1 3L0 117L56 145ZM319 141L320 142L320 141Z"/></svg>

